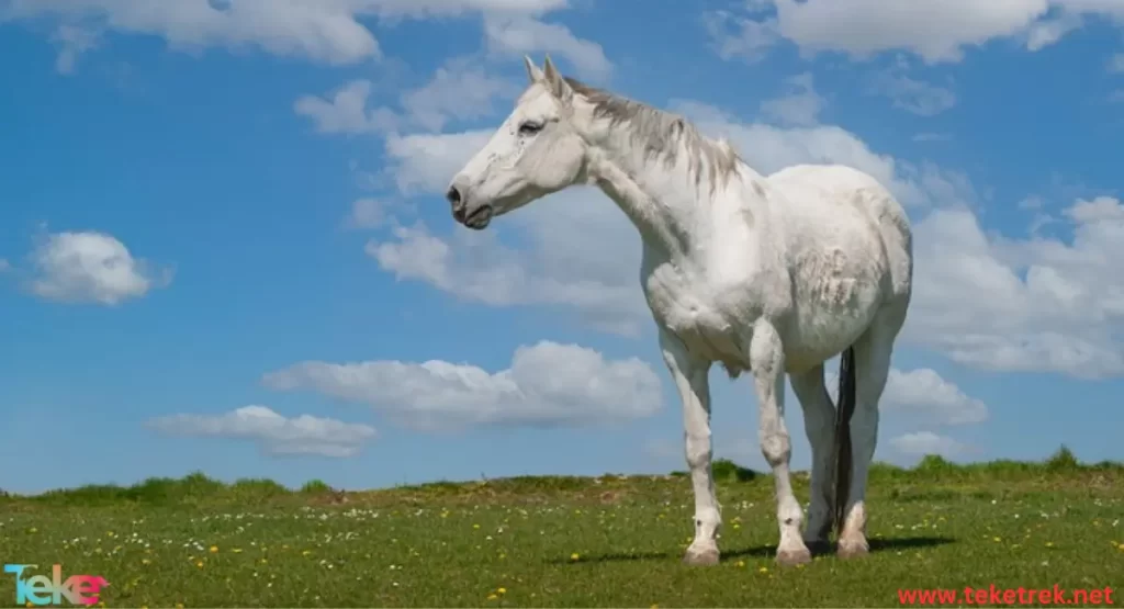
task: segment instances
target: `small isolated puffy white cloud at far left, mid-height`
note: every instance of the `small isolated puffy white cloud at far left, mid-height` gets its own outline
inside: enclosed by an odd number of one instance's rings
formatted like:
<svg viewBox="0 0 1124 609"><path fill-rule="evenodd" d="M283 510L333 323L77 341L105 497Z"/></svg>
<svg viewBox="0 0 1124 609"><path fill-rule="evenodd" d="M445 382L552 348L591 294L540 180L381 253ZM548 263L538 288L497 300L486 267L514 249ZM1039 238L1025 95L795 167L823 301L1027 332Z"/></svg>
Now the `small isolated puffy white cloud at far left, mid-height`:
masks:
<svg viewBox="0 0 1124 609"><path fill-rule="evenodd" d="M64 302L118 304L171 281L171 270L151 269L105 233L56 233L31 253L31 291Z"/></svg>

